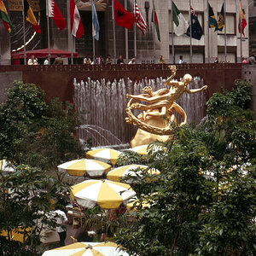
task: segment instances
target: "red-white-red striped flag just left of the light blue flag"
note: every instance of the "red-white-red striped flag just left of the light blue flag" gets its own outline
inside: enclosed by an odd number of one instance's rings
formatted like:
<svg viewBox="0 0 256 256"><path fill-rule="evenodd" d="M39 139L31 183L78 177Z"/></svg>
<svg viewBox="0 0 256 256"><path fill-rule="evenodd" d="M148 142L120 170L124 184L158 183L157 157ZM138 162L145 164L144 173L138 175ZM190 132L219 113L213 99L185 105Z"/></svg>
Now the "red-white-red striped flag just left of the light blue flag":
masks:
<svg viewBox="0 0 256 256"><path fill-rule="evenodd" d="M73 36L78 39L81 38L84 35L84 26L74 0L70 0L70 23Z"/></svg>

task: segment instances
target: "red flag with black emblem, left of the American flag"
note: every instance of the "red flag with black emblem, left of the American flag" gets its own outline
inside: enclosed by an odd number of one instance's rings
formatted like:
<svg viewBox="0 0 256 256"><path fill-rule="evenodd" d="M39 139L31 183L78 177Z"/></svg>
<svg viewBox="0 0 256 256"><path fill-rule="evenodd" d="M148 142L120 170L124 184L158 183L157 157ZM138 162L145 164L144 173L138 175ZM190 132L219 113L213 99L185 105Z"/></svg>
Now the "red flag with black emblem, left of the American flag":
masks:
<svg viewBox="0 0 256 256"><path fill-rule="evenodd" d="M114 0L114 20L118 26L124 26L129 30L135 22L134 16L126 11L117 0Z"/></svg>

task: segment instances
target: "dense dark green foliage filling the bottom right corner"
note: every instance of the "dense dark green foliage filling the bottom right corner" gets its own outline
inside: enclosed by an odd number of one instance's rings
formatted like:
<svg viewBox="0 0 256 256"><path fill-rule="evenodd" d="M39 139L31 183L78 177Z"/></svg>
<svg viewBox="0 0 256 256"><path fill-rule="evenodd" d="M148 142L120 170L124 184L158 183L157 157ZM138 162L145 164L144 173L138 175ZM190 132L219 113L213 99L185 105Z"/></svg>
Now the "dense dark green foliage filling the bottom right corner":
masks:
<svg viewBox="0 0 256 256"><path fill-rule="evenodd" d="M218 200L201 213L199 255L255 255L255 166L251 171L244 177L230 177L219 188Z"/></svg>

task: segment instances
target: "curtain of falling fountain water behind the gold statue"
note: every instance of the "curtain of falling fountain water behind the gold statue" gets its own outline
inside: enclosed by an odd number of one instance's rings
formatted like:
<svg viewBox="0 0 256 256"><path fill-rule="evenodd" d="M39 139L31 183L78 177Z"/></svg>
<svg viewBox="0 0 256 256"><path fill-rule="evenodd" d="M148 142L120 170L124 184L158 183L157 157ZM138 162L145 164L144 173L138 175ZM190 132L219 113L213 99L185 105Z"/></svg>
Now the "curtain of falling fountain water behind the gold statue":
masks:
<svg viewBox="0 0 256 256"><path fill-rule="evenodd" d="M152 90L166 88L166 79L105 79L77 81L74 84L75 108L79 113L79 127L77 134L84 142L91 140L93 147L107 146L112 148L128 148L131 138L137 129L133 125L125 124L125 108L127 104L126 94L138 95L145 86L151 86ZM201 88L203 79L195 77L189 84L189 89ZM198 94L183 94L177 103L187 113L189 124L199 124L205 116L206 96L204 92ZM135 115L139 114L134 110ZM177 118L178 119L178 118Z"/></svg>

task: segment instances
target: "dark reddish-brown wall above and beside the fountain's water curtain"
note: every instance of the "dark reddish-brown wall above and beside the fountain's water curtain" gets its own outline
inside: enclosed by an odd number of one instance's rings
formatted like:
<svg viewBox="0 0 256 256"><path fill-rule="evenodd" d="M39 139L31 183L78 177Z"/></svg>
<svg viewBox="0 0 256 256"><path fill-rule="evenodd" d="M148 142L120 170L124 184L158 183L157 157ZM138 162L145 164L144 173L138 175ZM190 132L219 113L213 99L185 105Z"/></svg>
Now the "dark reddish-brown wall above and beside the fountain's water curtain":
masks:
<svg viewBox="0 0 256 256"><path fill-rule="evenodd" d="M73 101L73 79L166 79L168 65L63 65L63 66L0 66L0 73L20 72L23 81L40 85L46 92L47 102L54 97ZM185 73L200 76L208 85L207 98L222 89L231 90L236 79L241 79L241 64L183 64L177 65L177 79Z"/></svg>

